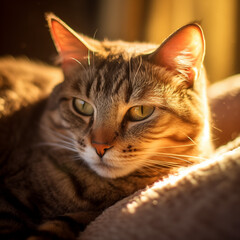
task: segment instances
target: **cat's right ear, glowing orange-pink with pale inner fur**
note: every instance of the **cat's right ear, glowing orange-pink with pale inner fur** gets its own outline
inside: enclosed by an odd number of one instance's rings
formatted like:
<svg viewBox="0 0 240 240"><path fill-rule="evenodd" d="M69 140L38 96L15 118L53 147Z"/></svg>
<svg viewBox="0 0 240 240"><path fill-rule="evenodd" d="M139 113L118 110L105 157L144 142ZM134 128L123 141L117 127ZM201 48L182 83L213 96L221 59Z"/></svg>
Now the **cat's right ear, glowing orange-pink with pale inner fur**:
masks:
<svg viewBox="0 0 240 240"><path fill-rule="evenodd" d="M205 55L205 40L198 24L189 24L168 37L150 55L151 61L183 74L188 86L199 76Z"/></svg>

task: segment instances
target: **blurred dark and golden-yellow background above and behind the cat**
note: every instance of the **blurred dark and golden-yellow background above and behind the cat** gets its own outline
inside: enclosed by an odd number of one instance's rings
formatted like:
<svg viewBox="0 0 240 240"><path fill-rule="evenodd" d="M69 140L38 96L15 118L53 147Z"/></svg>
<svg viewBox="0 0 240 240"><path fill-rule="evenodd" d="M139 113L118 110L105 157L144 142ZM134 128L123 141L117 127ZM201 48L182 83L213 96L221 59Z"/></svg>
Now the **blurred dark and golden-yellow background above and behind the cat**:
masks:
<svg viewBox="0 0 240 240"><path fill-rule="evenodd" d="M52 63L56 50L45 12L97 39L160 44L179 27L200 21L211 82L240 73L238 0L0 0L0 55Z"/></svg>

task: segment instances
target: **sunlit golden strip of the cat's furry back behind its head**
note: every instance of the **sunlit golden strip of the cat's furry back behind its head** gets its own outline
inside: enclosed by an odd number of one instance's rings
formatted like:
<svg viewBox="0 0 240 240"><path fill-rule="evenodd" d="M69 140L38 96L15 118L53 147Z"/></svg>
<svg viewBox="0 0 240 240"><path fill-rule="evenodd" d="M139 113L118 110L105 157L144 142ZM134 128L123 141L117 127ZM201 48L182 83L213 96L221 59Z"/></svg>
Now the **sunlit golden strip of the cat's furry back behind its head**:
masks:
<svg viewBox="0 0 240 240"><path fill-rule="evenodd" d="M0 58L0 118L46 97L63 79L59 68L27 58Z"/></svg>

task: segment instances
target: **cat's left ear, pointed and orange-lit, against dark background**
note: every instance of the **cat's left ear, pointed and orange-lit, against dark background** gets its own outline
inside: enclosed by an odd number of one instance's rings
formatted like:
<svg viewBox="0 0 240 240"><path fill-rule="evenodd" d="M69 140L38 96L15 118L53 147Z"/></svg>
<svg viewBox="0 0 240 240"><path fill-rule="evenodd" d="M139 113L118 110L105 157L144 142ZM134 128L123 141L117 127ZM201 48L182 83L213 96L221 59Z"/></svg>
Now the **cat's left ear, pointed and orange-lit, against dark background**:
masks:
<svg viewBox="0 0 240 240"><path fill-rule="evenodd" d="M84 38L54 14L47 13L46 18L63 68L69 67L74 61L81 63L89 61L92 49Z"/></svg>

